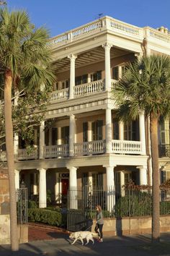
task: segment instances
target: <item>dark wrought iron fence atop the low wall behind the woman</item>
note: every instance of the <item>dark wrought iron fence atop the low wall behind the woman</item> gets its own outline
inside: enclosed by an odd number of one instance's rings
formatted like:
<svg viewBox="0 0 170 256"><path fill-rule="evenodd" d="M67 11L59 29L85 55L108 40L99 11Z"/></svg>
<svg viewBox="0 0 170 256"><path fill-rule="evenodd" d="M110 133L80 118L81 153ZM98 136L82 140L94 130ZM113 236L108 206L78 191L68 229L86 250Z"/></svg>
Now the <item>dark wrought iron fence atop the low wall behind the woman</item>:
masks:
<svg viewBox="0 0 170 256"><path fill-rule="evenodd" d="M170 187L160 189L159 202L160 214L170 214ZM72 188L68 191L67 204L68 209L81 210L90 218L95 218L96 205L102 206L104 218L151 216L152 187L122 187L119 194L112 187L105 190L92 189L91 186L85 186L79 190Z"/></svg>

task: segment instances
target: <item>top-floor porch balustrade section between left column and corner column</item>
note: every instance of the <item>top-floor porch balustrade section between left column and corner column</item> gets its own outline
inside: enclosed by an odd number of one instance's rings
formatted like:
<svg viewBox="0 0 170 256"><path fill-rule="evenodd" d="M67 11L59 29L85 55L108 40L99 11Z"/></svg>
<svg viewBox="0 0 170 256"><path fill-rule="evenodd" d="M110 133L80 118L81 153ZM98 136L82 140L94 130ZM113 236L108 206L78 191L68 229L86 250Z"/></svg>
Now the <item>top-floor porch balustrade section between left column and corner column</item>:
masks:
<svg viewBox="0 0 170 256"><path fill-rule="evenodd" d="M81 95L99 93L104 90L103 80L97 80L94 82L88 82L83 85L76 85L74 87L74 96L80 97Z"/></svg>

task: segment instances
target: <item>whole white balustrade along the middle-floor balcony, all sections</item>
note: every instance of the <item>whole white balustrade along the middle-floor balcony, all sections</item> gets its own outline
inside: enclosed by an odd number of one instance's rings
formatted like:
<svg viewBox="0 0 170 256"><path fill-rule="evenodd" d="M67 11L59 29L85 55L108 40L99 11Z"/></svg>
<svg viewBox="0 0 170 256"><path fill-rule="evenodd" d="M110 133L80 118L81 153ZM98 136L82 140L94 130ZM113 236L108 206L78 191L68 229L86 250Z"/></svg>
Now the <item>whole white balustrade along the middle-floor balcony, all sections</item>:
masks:
<svg viewBox="0 0 170 256"><path fill-rule="evenodd" d="M35 160L39 158L39 150L19 149L17 161ZM100 155L105 153L105 140L74 143L74 156ZM141 142L132 140L112 140L112 153L121 155L140 155ZM43 158L66 158L69 156L68 144L43 147ZM6 152L0 153L0 161L6 161Z"/></svg>

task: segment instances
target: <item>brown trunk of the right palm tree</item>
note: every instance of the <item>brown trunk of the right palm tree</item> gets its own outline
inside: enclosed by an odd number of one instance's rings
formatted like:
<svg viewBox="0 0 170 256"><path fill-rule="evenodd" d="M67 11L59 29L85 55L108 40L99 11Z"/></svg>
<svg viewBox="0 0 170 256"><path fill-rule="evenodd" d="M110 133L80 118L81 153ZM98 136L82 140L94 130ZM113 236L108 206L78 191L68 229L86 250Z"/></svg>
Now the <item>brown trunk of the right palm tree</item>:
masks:
<svg viewBox="0 0 170 256"><path fill-rule="evenodd" d="M152 242L160 239L160 205L159 205L159 166L158 166L158 117L151 115L151 153L153 168L153 213L152 213Z"/></svg>

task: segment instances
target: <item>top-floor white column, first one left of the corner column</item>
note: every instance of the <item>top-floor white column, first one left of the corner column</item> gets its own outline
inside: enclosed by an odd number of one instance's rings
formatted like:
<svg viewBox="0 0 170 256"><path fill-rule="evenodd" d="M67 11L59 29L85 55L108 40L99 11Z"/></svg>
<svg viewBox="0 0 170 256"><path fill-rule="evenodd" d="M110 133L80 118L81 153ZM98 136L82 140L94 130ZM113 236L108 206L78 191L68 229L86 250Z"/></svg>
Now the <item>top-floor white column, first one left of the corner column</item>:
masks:
<svg viewBox="0 0 170 256"><path fill-rule="evenodd" d="M69 98L73 98L73 88L75 86L75 61L76 56L71 54L68 56L68 59L71 60L71 66L70 66L70 90L69 90Z"/></svg>

